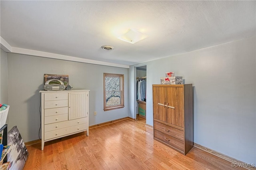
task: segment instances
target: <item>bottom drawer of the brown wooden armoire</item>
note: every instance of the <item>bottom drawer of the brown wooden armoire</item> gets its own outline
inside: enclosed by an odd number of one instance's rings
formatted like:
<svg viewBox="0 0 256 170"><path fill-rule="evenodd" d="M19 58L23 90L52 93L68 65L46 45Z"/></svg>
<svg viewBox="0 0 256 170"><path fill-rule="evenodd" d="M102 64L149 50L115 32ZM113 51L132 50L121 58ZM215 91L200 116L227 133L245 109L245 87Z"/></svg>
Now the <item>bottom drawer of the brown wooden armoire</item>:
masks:
<svg viewBox="0 0 256 170"><path fill-rule="evenodd" d="M154 130L154 137L184 152L184 141L174 138L172 136L169 136L167 134L164 134L162 132L159 132L158 130Z"/></svg>

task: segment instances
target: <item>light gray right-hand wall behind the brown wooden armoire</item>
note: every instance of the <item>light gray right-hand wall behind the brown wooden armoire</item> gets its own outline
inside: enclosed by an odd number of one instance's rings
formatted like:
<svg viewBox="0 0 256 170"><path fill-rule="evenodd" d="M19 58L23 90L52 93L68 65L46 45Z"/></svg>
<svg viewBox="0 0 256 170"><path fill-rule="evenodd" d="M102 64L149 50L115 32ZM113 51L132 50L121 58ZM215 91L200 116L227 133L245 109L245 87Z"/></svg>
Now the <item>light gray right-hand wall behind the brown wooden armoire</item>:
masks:
<svg viewBox="0 0 256 170"><path fill-rule="evenodd" d="M194 86L194 142L256 163L255 46L252 37L141 63L147 65L146 123L153 125L152 84L174 71Z"/></svg>

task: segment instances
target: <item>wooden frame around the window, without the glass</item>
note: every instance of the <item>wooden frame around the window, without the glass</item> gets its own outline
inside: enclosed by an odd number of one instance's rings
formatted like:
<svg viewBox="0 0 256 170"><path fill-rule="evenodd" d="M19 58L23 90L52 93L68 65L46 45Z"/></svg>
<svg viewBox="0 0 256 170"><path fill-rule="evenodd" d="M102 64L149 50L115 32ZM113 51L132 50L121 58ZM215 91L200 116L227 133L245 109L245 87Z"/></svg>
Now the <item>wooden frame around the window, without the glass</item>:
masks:
<svg viewBox="0 0 256 170"><path fill-rule="evenodd" d="M106 105L106 77L119 77L120 78L120 105L107 106ZM104 111L124 108L124 75L114 73L103 73L103 91L104 91Z"/></svg>

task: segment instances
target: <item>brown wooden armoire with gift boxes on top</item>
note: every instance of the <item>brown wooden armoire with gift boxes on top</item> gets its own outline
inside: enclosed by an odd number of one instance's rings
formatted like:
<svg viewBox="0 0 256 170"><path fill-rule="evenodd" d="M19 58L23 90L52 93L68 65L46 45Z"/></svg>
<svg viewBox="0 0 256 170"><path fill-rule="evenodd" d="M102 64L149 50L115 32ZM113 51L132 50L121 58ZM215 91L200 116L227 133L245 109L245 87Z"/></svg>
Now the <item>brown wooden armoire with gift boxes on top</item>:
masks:
<svg viewBox="0 0 256 170"><path fill-rule="evenodd" d="M154 139L182 154L194 146L192 84L153 85Z"/></svg>

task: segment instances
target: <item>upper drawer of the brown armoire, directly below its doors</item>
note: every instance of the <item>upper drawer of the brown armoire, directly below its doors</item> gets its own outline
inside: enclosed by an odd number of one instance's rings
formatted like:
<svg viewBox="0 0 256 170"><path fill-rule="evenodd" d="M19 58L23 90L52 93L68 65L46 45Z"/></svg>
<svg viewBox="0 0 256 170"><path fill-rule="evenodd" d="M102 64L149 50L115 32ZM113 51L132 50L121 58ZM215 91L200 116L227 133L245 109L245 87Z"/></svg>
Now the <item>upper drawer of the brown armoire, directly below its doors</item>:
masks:
<svg viewBox="0 0 256 170"><path fill-rule="evenodd" d="M154 129L180 140L184 140L184 131L178 128L170 127L168 125L154 121Z"/></svg>

